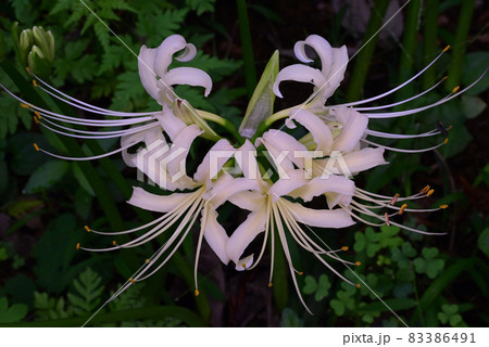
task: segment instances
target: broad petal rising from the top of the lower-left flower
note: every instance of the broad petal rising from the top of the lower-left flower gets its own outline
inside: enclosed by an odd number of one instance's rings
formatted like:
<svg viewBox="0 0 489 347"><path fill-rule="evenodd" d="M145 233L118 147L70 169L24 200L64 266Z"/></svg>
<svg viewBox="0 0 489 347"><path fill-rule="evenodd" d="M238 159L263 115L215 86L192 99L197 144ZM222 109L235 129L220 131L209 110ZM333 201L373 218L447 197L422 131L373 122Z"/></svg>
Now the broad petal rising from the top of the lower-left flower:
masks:
<svg viewBox="0 0 489 347"><path fill-rule="evenodd" d="M236 150L229 141L226 139L218 140L205 154L193 175L193 179L202 184L210 184L235 152Z"/></svg>

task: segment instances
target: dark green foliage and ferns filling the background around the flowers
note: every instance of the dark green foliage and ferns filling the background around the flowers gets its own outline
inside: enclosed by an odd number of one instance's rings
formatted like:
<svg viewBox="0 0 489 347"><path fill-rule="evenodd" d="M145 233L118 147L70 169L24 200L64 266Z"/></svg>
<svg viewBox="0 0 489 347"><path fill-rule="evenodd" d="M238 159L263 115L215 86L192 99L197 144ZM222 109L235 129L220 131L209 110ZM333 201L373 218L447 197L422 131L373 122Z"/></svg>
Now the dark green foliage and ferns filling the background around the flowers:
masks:
<svg viewBox="0 0 489 347"><path fill-rule="evenodd" d="M242 61L243 55L252 53L252 65L259 77L275 50L280 52L280 67L297 63L293 43L318 34L333 47L346 44L352 56L365 41L371 15L378 15L378 8L372 10L372 3L379 5L383 1L247 1L251 46L240 36L243 28L239 25L237 3L244 1L86 2L136 53L141 44L156 47L172 34L181 34L195 43L201 53L192 64L212 76L213 92L208 99L191 88L178 87L176 92L195 107L217 113L239 125L247 106L246 86L253 74L250 64ZM448 70L447 83L410 107L428 104L450 93L459 83L467 86L484 73L489 61L489 5L485 1L466 1L473 8L465 7L474 9L468 13L461 0L411 2L380 31L377 42L367 46L375 48L372 60L359 53L350 62L331 102L387 91L422 69L447 44L452 44L452 50L435 67L386 103L421 92ZM388 16L402 4L403 1L390 1ZM428 10L434 8L435 18L430 18ZM53 33L55 59L49 80L57 88L112 110L158 108L140 86L134 54L80 1L10 0L0 4L0 81L9 89L17 92L18 81L27 80L24 67L14 55L10 35L12 24L18 22L20 30L37 25ZM460 34L464 21L469 23L465 35ZM429 41L432 44L426 47L432 29L435 36ZM12 77L9 70L17 70L18 75ZM436 190L434 196L419 201L417 207L440 204L450 207L436 214L403 216L402 222L447 232L447 235L421 236L396 228L373 229L360 223L348 230L321 231L331 247L350 246L344 257L362 261L355 272L372 291L348 285L317 266L310 255L292 249L298 268L304 272L299 278L302 295L315 313L310 316L300 305L279 258L271 290L267 287L269 257L255 270L238 273L231 266L221 265L205 247L199 268L202 295L196 298L193 235L163 270L110 303L90 324L402 326L378 300L378 295L410 325L487 325L488 312L481 308L489 295L486 275L489 272L488 86L486 77L462 98L432 111L387 123L372 121L373 129L402 133L428 131L436 121L453 126L449 143L440 150L422 155L389 153L389 166L355 178L359 187L388 195L412 194L430 184ZM286 98L276 102L276 110L305 100L312 88L300 87L284 83ZM25 95L24 89L22 94ZM45 101L52 104L49 99ZM136 250L77 252L77 242L92 246L111 242L86 233L85 224L120 230L153 218L125 203L130 185L137 183L136 172L126 168L117 156L110 164L92 163L93 175L104 183L105 191L101 193L87 181L83 167L37 153L33 142L51 145L54 151L60 149L52 137L36 127L30 113L1 92L0 323L82 325L163 241ZM423 147L434 143L386 144ZM78 145L84 151L92 151L82 142ZM116 143L98 145L106 150ZM199 149L192 152L195 165L202 155ZM116 181L114 169L127 181ZM113 214L108 215L101 208L100 194L110 197ZM229 230L243 218L230 206L220 209L220 220ZM352 278L341 264L334 267Z"/></svg>

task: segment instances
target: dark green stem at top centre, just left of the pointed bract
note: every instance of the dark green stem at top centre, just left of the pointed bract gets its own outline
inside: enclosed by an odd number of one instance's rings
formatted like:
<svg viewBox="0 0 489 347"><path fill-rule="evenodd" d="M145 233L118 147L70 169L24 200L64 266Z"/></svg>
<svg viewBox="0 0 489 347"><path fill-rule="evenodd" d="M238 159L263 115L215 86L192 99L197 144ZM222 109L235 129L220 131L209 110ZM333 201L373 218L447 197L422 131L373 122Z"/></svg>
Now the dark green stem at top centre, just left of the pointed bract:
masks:
<svg viewBox="0 0 489 347"><path fill-rule="evenodd" d="M248 9L246 0L236 0L236 4L238 8L239 34L241 36L244 82L247 86L248 100L250 100L253 95L254 88L256 87L256 69L254 66L253 46L251 44Z"/></svg>

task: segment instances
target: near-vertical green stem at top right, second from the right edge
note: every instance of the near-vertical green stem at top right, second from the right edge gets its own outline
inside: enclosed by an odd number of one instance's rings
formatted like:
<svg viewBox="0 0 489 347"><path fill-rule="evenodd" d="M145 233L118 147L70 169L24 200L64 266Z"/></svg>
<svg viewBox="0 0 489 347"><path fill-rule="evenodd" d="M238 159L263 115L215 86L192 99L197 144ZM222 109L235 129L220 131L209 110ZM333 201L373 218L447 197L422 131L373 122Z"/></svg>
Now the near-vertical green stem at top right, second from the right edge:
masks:
<svg viewBox="0 0 489 347"><path fill-rule="evenodd" d="M423 38L424 65L428 65L437 55L439 0L431 0L425 7L425 36ZM423 88L428 89L435 82L436 69L434 66L423 74Z"/></svg>

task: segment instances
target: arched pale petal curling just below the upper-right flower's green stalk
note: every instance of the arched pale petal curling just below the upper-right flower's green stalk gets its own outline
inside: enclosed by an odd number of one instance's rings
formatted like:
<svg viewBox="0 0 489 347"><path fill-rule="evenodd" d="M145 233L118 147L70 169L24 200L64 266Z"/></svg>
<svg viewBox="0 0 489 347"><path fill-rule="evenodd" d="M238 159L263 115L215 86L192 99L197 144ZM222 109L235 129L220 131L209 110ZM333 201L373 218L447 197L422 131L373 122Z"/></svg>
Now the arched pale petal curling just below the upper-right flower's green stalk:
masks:
<svg viewBox="0 0 489 347"><path fill-rule="evenodd" d="M311 132L316 143L315 151L322 151L324 155L331 152L333 134L329 127L315 114L306 110L291 111L289 118L286 119L286 126L290 127L291 120L300 123Z"/></svg>

